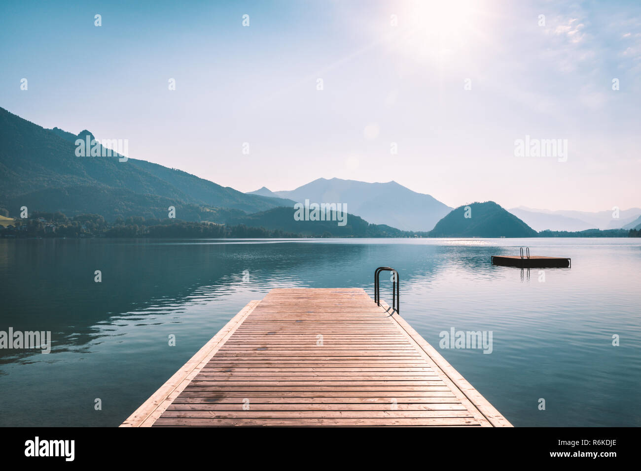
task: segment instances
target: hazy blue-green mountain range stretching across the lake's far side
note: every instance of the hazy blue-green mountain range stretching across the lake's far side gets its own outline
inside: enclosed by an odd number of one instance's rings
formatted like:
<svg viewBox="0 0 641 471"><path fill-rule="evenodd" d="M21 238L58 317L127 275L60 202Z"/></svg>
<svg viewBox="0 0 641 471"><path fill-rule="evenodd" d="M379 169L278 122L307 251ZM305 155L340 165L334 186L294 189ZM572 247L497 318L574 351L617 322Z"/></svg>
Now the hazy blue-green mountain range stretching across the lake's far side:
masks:
<svg viewBox="0 0 641 471"><path fill-rule="evenodd" d="M0 108L0 214L17 216L26 206L29 213L94 213L108 221L128 216L162 219L173 206L176 218L184 221L349 237L419 236L430 230L437 237L532 237L545 229L641 228L639 208L620 211L619 218L613 218L612 211L518 207L508 212L485 202L470 205L472 218L466 218L465 207L452 209L394 181L320 178L290 191L263 187L242 193L147 161L76 156L76 140L87 138L94 138L90 131L45 129ZM343 204L349 213L347 228L294 220L294 204L305 200Z"/></svg>

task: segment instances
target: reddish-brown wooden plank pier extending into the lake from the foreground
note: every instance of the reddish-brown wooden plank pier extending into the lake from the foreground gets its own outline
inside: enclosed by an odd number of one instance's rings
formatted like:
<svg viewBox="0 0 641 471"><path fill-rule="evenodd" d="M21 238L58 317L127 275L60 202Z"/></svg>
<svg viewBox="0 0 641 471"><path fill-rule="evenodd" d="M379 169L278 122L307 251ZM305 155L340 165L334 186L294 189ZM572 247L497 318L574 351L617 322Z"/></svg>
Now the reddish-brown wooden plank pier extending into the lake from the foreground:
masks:
<svg viewBox="0 0 641 471"><path fill-rule="evenodd" d="M363 289L251 301L122 426L511 426Z"/></svg>

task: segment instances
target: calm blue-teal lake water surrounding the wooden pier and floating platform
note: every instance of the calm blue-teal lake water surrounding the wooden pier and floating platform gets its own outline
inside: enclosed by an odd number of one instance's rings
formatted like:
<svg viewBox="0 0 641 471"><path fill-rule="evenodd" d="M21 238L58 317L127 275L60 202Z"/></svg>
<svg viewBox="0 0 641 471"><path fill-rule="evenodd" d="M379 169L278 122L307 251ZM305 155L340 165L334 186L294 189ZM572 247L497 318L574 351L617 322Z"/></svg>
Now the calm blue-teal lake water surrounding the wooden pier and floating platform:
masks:
<svg viewBox="0 0 641 471"><path fill-rule="evenodd" d="M490 265L519 246L572 268ZM492 331L490 355L439 351L515 426L641 425L641 239L0 239L0 330L53 337L48 355L0 349L0 425L117 426L251 299L373 293L377 266L399 270L401 314L433 346Z"/></svg>

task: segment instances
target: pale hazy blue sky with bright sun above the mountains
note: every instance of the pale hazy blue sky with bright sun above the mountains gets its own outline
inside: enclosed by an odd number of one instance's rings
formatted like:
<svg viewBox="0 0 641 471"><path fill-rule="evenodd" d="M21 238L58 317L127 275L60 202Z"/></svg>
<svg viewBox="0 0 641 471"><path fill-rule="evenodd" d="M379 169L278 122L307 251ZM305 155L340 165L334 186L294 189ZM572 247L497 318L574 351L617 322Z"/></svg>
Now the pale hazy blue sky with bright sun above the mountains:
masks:
<svg viewBox="0 0 641 471"><path fill-rule="evenodd" d="M0 63L12 113L241 191L641 206L638 1L3 2ZM526 135L567 161L515 157Z"/></svg>

